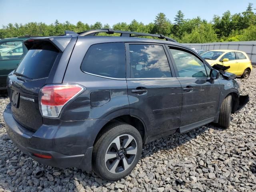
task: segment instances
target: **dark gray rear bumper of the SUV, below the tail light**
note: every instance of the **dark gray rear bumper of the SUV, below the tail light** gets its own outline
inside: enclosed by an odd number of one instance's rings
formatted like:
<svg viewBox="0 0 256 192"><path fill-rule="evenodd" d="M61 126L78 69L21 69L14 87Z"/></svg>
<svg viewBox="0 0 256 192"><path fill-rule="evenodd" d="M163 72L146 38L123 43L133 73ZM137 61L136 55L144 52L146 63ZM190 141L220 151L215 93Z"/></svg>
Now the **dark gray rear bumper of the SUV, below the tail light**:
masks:
<svg viewBox="0 0 256 192"><path fill-rule="evenodd" d="M95 126L100 128L107 120L61 122L54 126L43 124L36 132L31 132L14 119L8 104L4 110L4 122L10 139L34 160L60 168L78 167L90 173L92 146L98 134ZM38 158L33 154L50 155L52 158Z"/></svg>

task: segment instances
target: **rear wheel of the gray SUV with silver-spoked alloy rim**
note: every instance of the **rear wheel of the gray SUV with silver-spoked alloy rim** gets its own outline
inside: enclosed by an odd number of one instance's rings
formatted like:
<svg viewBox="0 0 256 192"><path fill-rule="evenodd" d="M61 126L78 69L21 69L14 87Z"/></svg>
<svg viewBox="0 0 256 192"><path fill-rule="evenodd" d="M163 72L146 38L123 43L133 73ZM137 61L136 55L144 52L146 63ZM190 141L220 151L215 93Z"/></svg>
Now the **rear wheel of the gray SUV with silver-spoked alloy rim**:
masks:
<svg viewBox="0 0 256 192"><path fill-rule="evenodd" d="M119 180L132 172L141 152L142 138L136 128L110 124L93 147L92 170L104 180Z"/></svg>

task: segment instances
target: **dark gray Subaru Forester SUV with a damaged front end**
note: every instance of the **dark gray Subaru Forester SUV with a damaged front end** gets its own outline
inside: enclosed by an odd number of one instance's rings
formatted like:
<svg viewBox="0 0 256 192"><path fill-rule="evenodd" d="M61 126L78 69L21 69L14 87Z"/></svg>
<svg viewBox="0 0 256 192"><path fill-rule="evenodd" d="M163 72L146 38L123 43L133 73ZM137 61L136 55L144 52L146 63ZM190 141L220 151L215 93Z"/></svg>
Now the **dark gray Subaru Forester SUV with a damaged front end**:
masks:
<svg viewBox="0 0 256 192"><path fill-rule="evenodd" d="M210 122L228 128L249 100L234 74L163 35L103 29L24 44L7 79L8 135L42 164L105 180L129 174L156 138Z"/></svg>

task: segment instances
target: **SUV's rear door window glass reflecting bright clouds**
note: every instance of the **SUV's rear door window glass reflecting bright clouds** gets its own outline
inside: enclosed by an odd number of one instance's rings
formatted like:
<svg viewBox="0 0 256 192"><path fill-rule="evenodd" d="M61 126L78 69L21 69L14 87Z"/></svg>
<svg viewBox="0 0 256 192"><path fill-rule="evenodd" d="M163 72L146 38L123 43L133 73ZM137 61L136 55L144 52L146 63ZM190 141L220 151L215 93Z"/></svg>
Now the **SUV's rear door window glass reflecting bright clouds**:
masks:
<svg viewBox="0 0 256 192"><path fill-rule="evenodd" d="M130 44L131 78L169 78L170 66L161 45Z"/></svg>

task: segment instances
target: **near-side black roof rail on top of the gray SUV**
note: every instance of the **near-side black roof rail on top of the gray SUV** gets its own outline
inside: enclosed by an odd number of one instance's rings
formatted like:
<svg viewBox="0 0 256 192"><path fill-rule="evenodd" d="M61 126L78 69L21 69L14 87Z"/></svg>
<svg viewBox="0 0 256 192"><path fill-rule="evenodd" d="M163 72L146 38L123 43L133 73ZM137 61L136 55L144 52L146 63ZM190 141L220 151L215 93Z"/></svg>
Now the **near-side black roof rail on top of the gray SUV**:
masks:
<svg viewBox="0 0 256 192"><path fill-rule="evenodd" d="M177 42L176 40L166 37L162 34L149 34L149 33L139 33L139 32L130 32L130 31L119 31L119 30L113 30L113 29L95 29L95 30L89 30L78 33L78 36L95 36L97 33L107 33L107 34L114 34L114 33L120 33L121 37L139 37L139 36L151 36L151 37L157 37L159 39L165 39L166 41L172 41Z"/></svg>

